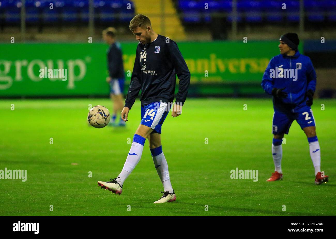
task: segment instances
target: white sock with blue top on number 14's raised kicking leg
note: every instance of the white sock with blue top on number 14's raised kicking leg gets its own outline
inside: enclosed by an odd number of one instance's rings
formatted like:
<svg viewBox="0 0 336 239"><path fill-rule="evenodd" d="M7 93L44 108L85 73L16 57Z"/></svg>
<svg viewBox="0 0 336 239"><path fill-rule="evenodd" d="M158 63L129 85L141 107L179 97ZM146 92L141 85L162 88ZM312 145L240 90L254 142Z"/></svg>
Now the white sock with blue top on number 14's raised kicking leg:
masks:
<svg viewBox="0 0 336 239"><path fill-rule="evenodd" d="M124 164L123 170L120 172L120 178L117 179L117 182L123 186L128 175L133 171L135 166L141 159L141 154L143 151L143 146L145 144L146 139L138 134L134 134L133 143L129 153L127 155L126 162Z"/></svg>

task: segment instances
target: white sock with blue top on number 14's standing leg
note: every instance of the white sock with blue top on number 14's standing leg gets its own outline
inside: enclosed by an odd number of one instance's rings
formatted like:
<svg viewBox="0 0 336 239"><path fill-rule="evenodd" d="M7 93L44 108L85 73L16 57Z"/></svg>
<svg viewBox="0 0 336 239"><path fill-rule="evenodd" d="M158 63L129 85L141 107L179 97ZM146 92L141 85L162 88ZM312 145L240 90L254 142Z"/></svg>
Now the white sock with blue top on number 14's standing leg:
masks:
<svg viewBox="0 0 336 239"><path fill-rule="evenodd" d="M161 182L163 184L163 191L169 191L169 193L173 193L173 188L170 183L168 164L165 155L162 152L162 146L151 149L151 153L156 171L158 172Z"/></svg>

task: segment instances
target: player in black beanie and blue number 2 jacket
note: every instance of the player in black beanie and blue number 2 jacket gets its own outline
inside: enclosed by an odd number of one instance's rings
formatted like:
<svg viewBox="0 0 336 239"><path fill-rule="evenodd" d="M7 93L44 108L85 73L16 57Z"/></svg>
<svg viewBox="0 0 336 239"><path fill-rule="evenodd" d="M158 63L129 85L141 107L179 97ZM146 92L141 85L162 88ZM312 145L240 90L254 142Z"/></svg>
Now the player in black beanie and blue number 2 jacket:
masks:
<svg viewBox="0 0 336 239"><path fill-rule="evenodd" d="M315 168L315 184L322 184L328 182L328 176L321 174L321 150L310 108L316 87L316 73L310 58L298 51L298 45L296 33L282 35L279 44L281 54L270 60L261 82L264 91L273 95L274 106L272 155L275 172L267 181L282 179L282 138L296 120L308 138L310 157Z"/></svg>

